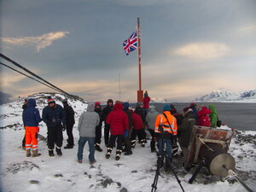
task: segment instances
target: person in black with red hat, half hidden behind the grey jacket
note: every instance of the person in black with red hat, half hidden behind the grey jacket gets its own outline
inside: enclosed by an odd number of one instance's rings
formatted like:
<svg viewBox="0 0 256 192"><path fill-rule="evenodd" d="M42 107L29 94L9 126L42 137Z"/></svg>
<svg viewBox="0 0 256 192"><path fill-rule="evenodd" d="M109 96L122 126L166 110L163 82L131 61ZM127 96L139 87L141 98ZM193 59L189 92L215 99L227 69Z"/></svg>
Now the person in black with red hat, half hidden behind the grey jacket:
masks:
<svg viewBox="0 0 256 192"><path fill-rule="evenodd" d="M96 126L96 137L95 137L95 149L99 152L102 152L101 143L102 143L102 107L101 102L95 103L94 111L98 113L100 117L100 124Z"/></svg>

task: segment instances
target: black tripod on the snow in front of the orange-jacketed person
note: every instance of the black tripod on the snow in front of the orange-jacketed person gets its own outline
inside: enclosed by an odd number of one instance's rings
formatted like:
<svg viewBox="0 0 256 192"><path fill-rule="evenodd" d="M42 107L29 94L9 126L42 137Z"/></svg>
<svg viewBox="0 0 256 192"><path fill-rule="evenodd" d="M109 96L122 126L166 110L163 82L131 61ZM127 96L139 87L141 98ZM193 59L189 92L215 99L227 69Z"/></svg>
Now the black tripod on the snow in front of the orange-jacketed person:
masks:
<svg viewBox="0 0 256 192"><path fill-rule="evenodd" d="M160 134L160 135L161 135L161 134ZM164 140L163 140L162 138L161 138L161 143L162 143L162 146L161 146L161 147L164 148ZM157 168L156 168L155 175L154 175L154 182L153 182L152 185L151 185L151 187L152 187L151 192L154 192L154 191L156 191L156 189L157 189L156 186L157 186L157 183L158 183L158 177L159 177L159 175L160 175L160 167L161 167L162 162L164 161L164 158L166 158L166 163L168 163L169 166L171 167L171 170L172 170L174 176L175 176L176 179L177 179L177 183L180 185L181 189L182 189L183 192L184 192L183 186L181 185L181 181L178 179L176 172L174 172L174 169L173 169L173 167L172 167L171 161L170 161L169 158L166 156L166 152L163 152L163 153L160 155L160 158L158 158L158 160L157 160Z"/></svg>

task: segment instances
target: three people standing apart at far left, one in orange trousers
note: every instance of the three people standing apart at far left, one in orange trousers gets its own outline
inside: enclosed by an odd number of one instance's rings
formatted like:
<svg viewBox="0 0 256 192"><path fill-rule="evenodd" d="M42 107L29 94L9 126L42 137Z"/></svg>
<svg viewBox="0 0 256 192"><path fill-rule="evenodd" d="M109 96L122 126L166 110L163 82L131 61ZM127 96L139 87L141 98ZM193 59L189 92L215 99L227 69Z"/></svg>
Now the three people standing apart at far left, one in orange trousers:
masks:
<svg viewBox="0 0 256 192"><path fill-rule="evenodd" d="M25 127L25 138L22 141L23 148L26 149L26 156L39 156L38 153L38 124L44 120L47 125L47 144L49 156L54 156L54 149L57 155L61 156L61 147L63 142L62 131L67 131L67 146L64 148L73 148L73 125L75 123L74 111L67 104L67 99L62 101L61 105L56 104L51 97L47 100L48 105L43 109L42 118L36 108L36 100L25 100L22 113L23 124ZM32 153L31 153L32 152Z"/></svg>

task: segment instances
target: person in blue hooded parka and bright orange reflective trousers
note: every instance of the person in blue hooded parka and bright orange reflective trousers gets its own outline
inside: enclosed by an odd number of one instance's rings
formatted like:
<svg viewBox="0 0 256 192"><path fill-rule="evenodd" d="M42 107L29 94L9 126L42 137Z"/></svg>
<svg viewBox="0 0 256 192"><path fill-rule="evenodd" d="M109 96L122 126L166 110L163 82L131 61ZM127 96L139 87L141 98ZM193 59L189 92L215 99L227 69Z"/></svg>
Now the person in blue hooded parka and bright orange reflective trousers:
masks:
<svg viewBox="0 0 256 192"><path fill-rule="evenodd" d="M41 154L38 153L38 124L42 121L38 108L36 108L36 100L28 99L27 108L24 109L22 113L22 119L25 126L26 134L26 156L37 157Z"/></svg>

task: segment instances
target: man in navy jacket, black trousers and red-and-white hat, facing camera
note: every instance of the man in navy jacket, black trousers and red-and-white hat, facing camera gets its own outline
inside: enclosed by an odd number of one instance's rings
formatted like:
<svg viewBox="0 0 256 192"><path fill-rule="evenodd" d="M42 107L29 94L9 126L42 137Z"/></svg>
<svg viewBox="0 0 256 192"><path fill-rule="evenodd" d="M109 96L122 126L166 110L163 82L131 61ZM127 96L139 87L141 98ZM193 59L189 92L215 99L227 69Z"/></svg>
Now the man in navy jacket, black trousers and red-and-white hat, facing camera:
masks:
<svg viewBox="0 0 256 192"><path fill-rule="evenodd" d="M47 125L47 143L49 156L54 156L54 148L56 153L61 156L61 146L63 142L62 129L66 129L66 117L64 109L55 103L53 98L47 100L48 106L43 109L43 120Z"/></svg>

